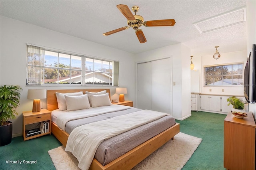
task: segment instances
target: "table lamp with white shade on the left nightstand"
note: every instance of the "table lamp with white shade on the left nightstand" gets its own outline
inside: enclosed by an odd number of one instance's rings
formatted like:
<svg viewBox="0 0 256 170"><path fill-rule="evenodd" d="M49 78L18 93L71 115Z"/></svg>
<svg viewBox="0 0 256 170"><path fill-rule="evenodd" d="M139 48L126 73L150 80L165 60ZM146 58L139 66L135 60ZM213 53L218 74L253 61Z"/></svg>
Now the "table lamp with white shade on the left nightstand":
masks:
<svg viewBox="0 0 256 170"><path fill-rule="evenodd" d="M34 99L32 112L40 112L40 99L46 99L46 90L28 89L28 99Z"/></svg>

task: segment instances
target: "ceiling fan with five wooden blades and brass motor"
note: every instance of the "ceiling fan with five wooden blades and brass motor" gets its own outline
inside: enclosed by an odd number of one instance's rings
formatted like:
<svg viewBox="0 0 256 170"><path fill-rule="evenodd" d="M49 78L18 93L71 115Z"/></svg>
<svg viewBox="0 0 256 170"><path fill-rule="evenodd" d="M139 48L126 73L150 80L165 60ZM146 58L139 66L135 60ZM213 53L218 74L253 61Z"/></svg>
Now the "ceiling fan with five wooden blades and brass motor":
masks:
<svg viewBox="0 0 256 170"><path fill-rule="evenodd" d="M109 36L111 34L127 30L128 28L132 27L140 41L140 43L145 43L147 42L143 32L141 29L139 29L140 26L146 26L146 27L156 27L156 26L174 26L175 20L174 19L167 19L167 20L152 20L152 21L144 21L144 18L142 16L136 15L136 12L140 9L138 6L133 6L132 11L135 13L135 15L132 14L130 9L128 8L127 5L117 5L116 6L122 14L127 18L128 26L118 28L116 30L112 30L110 32L106 32L103 35L104 36Z"/></svg>

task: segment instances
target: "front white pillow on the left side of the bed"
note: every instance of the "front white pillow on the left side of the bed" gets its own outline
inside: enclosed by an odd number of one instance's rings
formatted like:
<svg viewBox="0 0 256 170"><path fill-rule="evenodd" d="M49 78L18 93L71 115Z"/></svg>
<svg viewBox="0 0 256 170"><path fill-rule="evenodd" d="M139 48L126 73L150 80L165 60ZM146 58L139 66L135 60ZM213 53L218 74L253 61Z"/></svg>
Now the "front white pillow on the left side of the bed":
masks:
<svg viewBox="0 0 256 170"><path fill-rule="evenodd" d="M88 101L88 95L82 96L66 96L66 104L67 104L67 111L76 111L81 109L88 109L90 108L90 103Z"/></svg>

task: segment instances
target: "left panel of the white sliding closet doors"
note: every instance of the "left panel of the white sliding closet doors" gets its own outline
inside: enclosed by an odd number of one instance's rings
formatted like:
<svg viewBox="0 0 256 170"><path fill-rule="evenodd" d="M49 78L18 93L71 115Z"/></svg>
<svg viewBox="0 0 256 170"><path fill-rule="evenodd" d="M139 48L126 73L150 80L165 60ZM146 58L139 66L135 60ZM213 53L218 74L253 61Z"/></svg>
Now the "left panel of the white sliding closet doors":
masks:
<svg viewBox="0 0 256 170"><path fill-rule="evenodd" d="M151 62L138 64L138 108L152 110Z"/></svg>

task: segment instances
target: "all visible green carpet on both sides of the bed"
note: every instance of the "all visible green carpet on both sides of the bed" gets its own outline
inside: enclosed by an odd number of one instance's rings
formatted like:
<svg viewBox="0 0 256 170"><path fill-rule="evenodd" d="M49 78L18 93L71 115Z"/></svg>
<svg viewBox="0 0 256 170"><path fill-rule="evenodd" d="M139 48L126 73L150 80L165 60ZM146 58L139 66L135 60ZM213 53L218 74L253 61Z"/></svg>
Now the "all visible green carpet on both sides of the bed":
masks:
<svg viewBox="0 0 256 170"><path fill-rule="evenodd" d="M226 115L191 112L192 116L180 123L180 131L203 141L182 170L224 170L223 168L223 129ZM22 136L12 138L12 142L0 147L1 170L55 170L48 150L62 144L54 135L46 135L23 141ZM22 161L21 164L6 161ZM24 161L34 161L26 164ZM28 162L29 163L29 162Z"/></svg>

